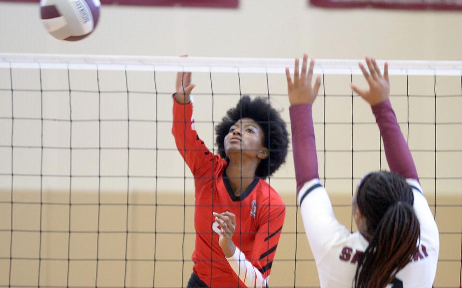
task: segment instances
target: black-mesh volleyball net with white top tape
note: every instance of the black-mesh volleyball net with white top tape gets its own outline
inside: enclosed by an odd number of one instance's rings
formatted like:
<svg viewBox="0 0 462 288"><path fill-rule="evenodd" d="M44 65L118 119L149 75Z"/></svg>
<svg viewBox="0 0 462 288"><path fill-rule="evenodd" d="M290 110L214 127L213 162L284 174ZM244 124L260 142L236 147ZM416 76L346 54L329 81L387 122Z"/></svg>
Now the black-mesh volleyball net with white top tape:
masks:
<svg viewBox="0 0 462 288"><path fill-rule="evenodd" d="M319 175L355 231L351 196L388 169L357 60L316 61ZM383 61L378 61L383 67ZM440 231L435 287L462 277L462 62L388 61L391 102ZM195 127L242 95L289 125L293 59L0 54L0 286L179 287L192 272L194 183L172 127L177 71L192 71ZM268 182L286 203L271 287L318 287L295 196L291 149Z"/></svg>

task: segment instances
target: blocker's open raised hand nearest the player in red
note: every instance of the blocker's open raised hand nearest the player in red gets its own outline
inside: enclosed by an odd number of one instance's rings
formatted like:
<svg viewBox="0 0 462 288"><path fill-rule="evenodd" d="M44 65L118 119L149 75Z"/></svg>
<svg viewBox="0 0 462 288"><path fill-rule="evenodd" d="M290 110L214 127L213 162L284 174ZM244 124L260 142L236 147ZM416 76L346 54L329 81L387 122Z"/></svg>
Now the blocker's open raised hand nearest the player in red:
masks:
<svg viewBox="0 0 462 288"><path fill-rule="evenodd" d="M310 103L314 100L321 86L321 77L316 77L314 86L312 87L311 80L313 78L314 59L311 59L307 73L308 55L303 54L302 72L299 75L299 58L295 58L295 66L293 71L293 82L290 78L289 68L285 68L287 77L287 90L289 94L290 105Z"/></svg>

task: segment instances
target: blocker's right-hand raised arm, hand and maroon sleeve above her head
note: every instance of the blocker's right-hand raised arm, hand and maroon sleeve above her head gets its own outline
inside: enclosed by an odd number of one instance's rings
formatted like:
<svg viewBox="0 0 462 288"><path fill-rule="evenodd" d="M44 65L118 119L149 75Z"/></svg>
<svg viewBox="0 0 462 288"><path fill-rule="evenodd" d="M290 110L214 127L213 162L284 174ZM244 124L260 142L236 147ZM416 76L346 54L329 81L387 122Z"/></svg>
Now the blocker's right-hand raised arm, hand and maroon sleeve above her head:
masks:
<svg viewBox="0 0 462 288"><path fill-rule="evenodd" d="M354 84L351 84L351 88L371 105L391 172L418 181L411 152L391 108L388 63L385 63L383 75L374 58L366 57L366 63L369 72L362 63L359 63L359 67L369 83L369 90L362 90Z"/></svg>

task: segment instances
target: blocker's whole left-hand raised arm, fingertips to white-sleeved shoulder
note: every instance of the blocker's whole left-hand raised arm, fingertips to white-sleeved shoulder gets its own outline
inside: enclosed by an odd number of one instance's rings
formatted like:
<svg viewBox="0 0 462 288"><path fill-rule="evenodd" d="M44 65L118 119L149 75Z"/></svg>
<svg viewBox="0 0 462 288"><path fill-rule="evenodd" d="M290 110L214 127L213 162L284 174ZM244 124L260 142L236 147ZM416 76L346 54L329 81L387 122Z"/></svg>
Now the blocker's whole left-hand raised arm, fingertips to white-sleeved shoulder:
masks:
<svg viewBox="0 0 462 288"><path fill-rule="evenodd" d="M286 76L297 198L311 251L316 261L319 261L333 245L348 237L350 232L335 218L331 200L319 181L311 105L319 91L321 79L317 77L312 87L314 60L310 62L308 73L307 62L308 56L305 54L302 73L299 75L299 60L295 59L293 82L288 68Z"/></svg>

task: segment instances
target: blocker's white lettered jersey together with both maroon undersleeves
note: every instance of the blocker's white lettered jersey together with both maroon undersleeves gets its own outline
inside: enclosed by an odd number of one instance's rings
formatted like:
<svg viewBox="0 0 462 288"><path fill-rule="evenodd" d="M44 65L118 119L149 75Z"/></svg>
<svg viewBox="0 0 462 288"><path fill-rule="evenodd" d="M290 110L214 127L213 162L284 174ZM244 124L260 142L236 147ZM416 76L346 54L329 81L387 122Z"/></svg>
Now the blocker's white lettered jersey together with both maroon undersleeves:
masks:
<svg viewBox="0 0 462 288"><path fill-rule="evenodd" d="M439 253L439 234L423 196L409 147L389 100L372 106L382 134L385 155L394 173L407 179L414 193L414 210L420 223L420 243L412 261L387 287L432 287ZM358 261L369 242L335 218L331 201L320 184L311 105L290 107L292 145L298 200L305 232L316 261L321 287L350 288Z"/></svg>

